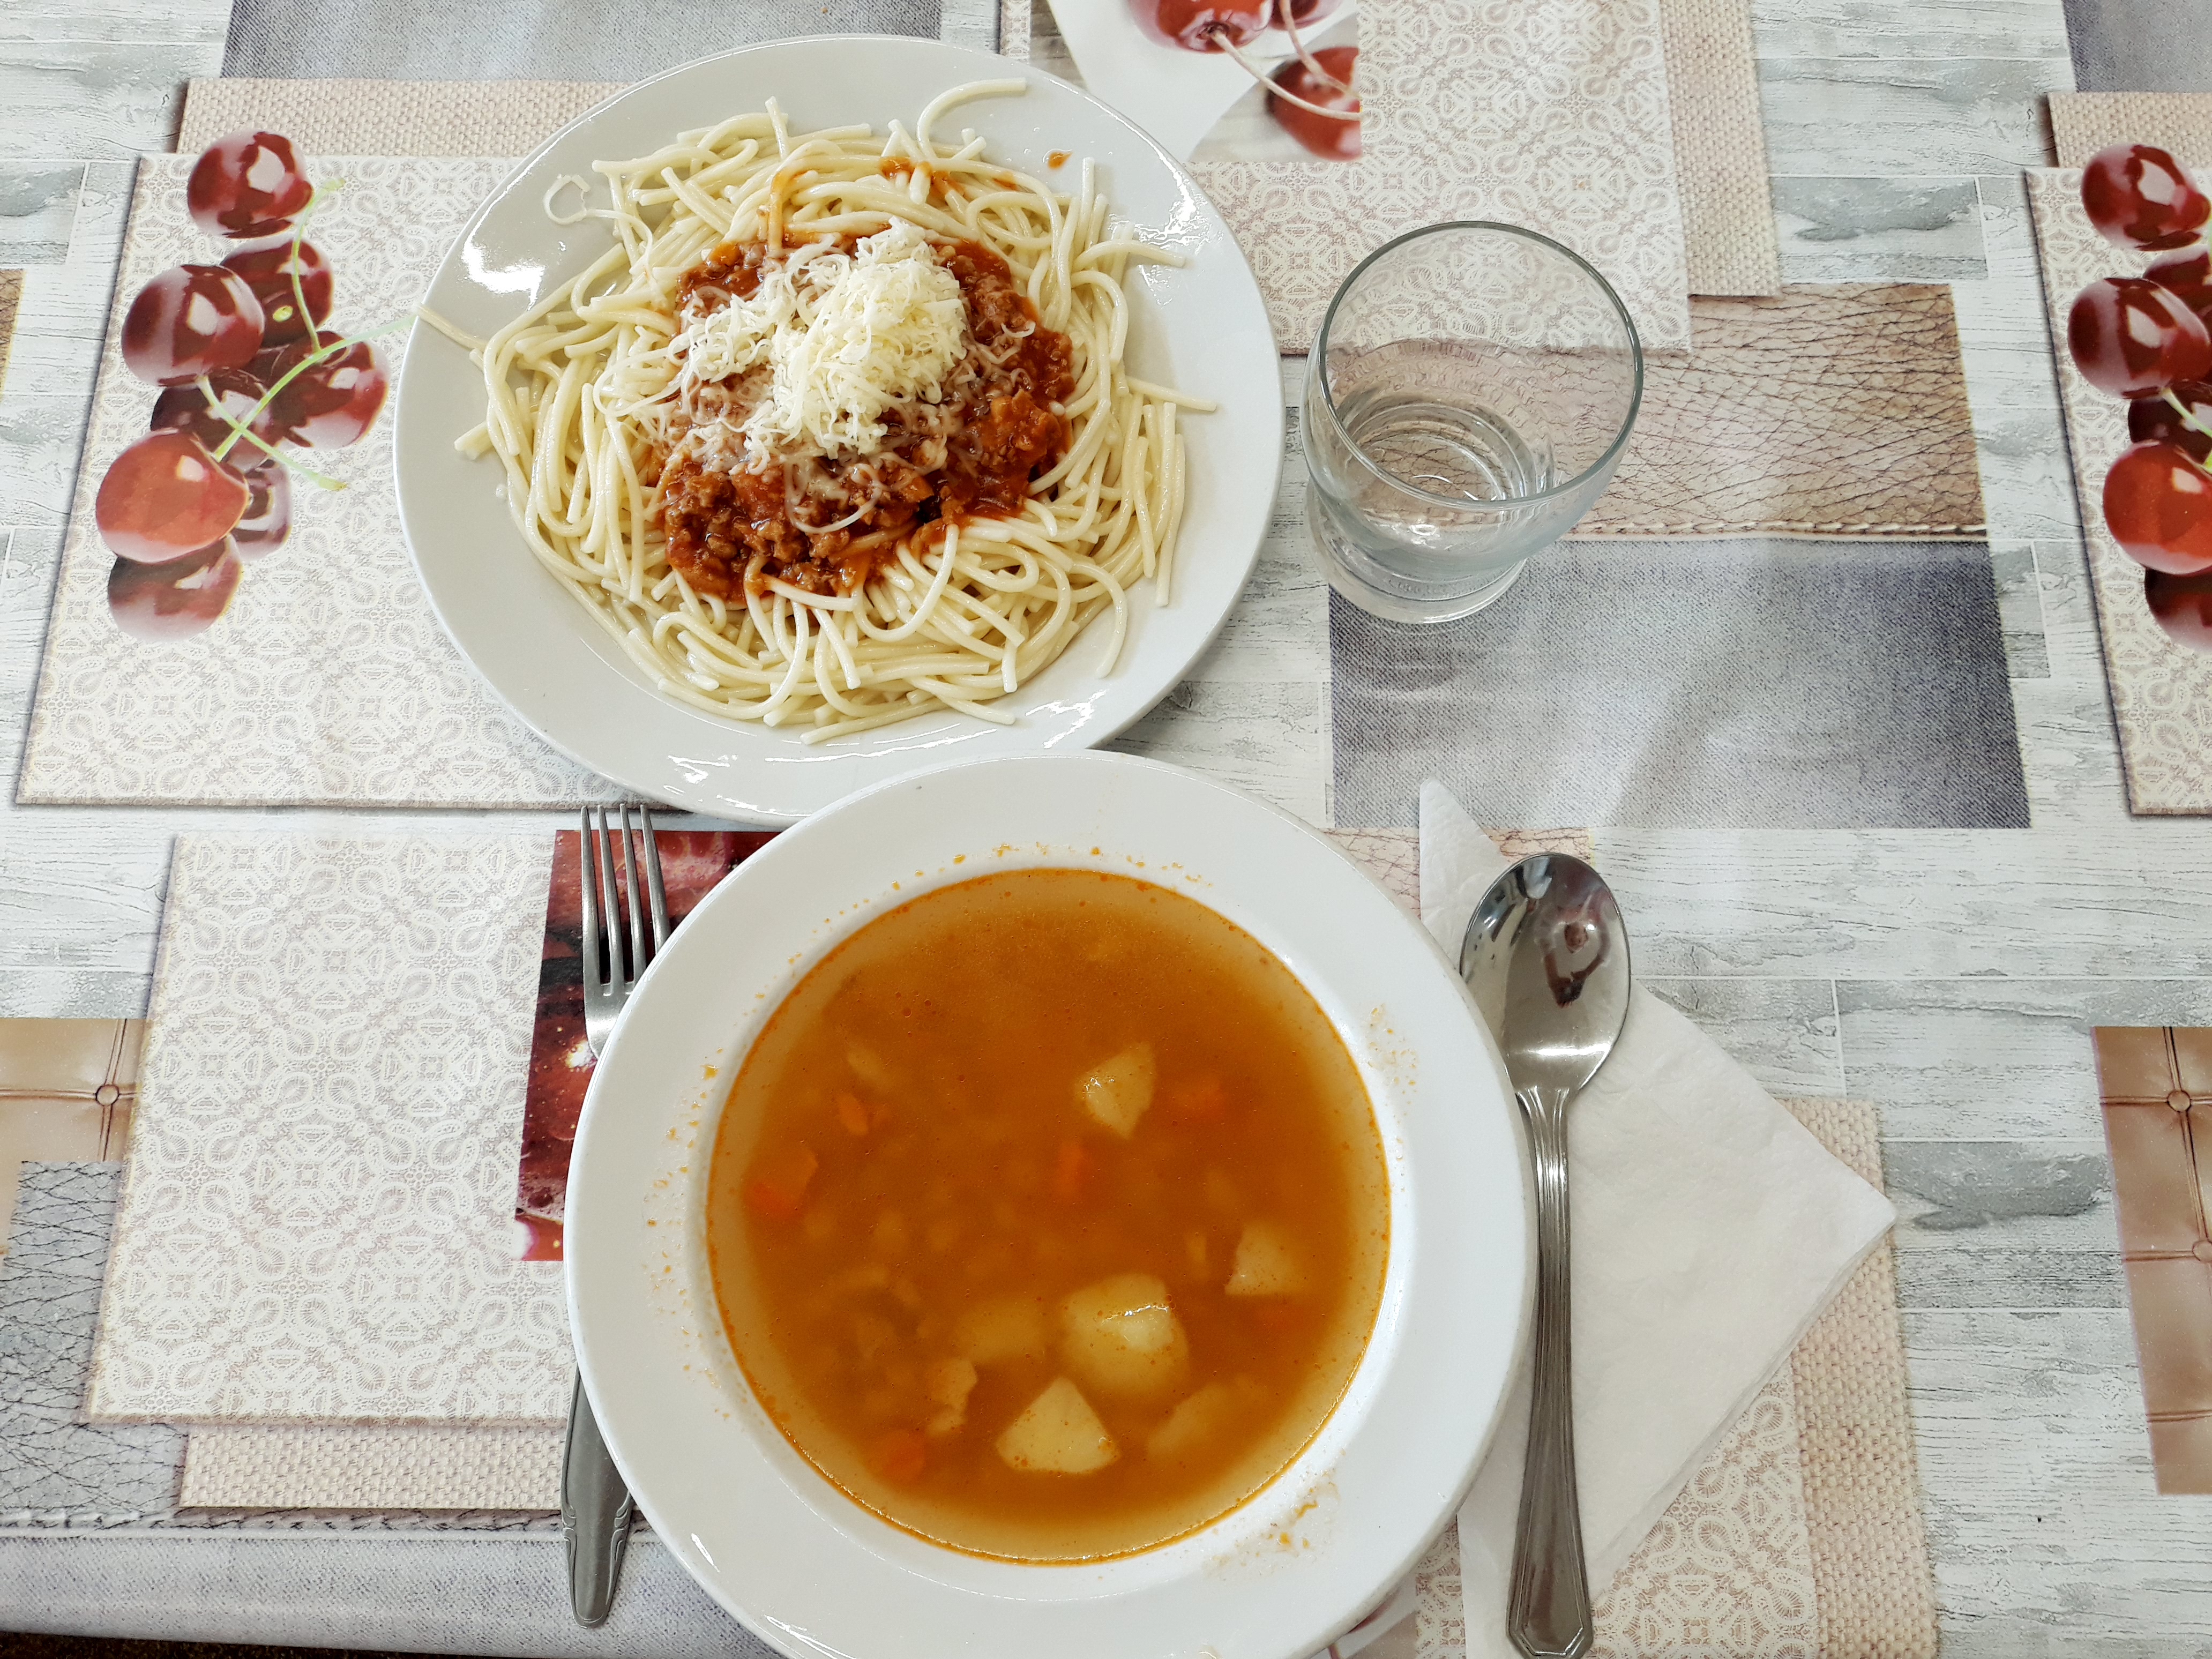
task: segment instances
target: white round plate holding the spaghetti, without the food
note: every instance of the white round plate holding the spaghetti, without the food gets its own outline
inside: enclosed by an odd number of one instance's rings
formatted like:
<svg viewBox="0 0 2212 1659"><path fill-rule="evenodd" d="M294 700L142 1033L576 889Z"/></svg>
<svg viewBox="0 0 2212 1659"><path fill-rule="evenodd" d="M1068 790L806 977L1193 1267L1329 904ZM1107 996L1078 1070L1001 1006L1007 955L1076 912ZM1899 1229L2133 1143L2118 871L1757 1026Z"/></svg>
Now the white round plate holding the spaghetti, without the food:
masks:
<svg viewBox="0 0 2212 1659"><path fill-rule="evenodd" d="M482 374L418 323L398 376L394 434L416 571L445 630L493 692L595 772L717 818L790 825L925 765L1091 748L1175 688L1243 591L1283 453L1283 394L1259 288L1228 226L1166 150L1026 64L936 40L830 35L675 69L571 122L522 161L460 232L425 303L482 338L573 279L611 232L597 219L553 223L544 195L562 175L595 179L593 161L648 155L684 128L763 108L770 97L801 131L867 122L883 133L894 119L911 131L931 97L975 80L1024 80L1029 93L962 104L953 131L982 133L993 159L1066 188L1077 161L1095 159L1117 221L1188 261L1181 270L1139 265L1128 279L1130 369L1221 405L1181 422L1190 495L1172 602L1155 606L1150 584L1135 588L1130 637L1113 672L1104 672L1108 628L1095 626L995 703L1018 717L1011 728L942 712L810 745L790 728L697 712L655 690L538 564L500 495L498 462L456 453L453 440L484 418ZM1055 150L1077 159L1055 173Z"/></svg>

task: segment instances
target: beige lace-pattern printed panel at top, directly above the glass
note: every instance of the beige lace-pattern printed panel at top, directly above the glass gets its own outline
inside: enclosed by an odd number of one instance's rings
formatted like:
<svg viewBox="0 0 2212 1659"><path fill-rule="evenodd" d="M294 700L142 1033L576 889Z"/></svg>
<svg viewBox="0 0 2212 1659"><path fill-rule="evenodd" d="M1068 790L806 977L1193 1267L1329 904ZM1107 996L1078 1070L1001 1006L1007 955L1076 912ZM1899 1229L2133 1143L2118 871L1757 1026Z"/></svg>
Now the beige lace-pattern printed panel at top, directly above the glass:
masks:
<svg viewBox="0 0 2212 1659"><path fill-rule="evenodd" d="M1338 7L1312 11L1316 40L1329 40ZM1031 20L1044 20L1044 0ZM1177 58L1194 53L1141 35L1130 0L1057 0L1057 24L1066 40L1082 35L1073 64L1108 104L1137 108L1150 82L1190 71ZM1312 345L1352 265L1442 219L1555 237L1606 274L1646 347L1690 343L1659 0L1360 0L1356 24L1356 146L1323 157L1221 144L1232 108L1190 153L1252 261L1283 352ZM1013 40L1029 35L1002 49ZM1263 128L1263 97L1245 100L1245 126Z"/></svg>

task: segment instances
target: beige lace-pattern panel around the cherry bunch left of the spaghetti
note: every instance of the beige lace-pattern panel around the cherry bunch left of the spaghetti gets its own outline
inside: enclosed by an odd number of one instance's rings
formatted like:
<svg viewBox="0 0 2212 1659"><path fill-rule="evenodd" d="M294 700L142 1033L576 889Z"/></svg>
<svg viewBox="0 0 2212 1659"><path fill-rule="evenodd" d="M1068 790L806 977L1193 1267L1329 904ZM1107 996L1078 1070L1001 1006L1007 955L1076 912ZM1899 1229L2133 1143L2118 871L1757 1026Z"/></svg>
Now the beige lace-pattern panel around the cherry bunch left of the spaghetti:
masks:
<svg viewBox="0 0 2212 1659"><path fill-rule="evenodd" d="M93 524L108 465L146 436L155 389L122 363L131 299L215 250L184 206L190 157L139 164L93 392L62 575L18 799L190 805L551 807L613 799L555 754L453 650L407 557L392 487L392 409L294 478L292 533L252 560L206 633L146 641L108 613L115 557ZM310 159L345 188L314 219L332 325L405 319L504 161ZM398 356L392 341L387 354ZM431 349L451 349L442 341ZM392 363L396 378L398 365Z"/></svg>

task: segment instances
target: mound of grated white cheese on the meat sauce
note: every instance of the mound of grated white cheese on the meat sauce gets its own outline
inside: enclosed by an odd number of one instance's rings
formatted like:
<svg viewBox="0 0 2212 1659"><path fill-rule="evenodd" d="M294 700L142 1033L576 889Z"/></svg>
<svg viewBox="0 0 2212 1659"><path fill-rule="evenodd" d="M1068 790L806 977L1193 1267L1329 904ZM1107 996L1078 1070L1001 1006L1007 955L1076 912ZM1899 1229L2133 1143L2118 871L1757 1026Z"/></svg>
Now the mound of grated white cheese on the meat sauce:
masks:
<svg viewBox="0 0 2212 1659"><path fill-rule="evenodd" d="M750 445L825 456L869 456L891 405L938 403L967 343L960 281L905 221L854 254L834 243L794 248L750 299L695 316L677 336L692 383L772 372L741 427Z"/></svg>

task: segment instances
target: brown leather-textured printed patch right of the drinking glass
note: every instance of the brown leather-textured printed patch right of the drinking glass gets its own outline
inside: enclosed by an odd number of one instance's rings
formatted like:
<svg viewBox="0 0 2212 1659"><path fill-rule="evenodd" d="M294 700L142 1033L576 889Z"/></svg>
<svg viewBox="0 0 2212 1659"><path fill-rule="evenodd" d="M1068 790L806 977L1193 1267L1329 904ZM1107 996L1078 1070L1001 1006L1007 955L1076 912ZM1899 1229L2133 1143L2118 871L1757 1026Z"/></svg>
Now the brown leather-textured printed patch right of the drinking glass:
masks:
<svg viewBox="0 0 2212 1659"><path fill-rule="evenodd" d="M1573 535L1984 540L1951 290L1694 299L1613 487Z"/></svg>

